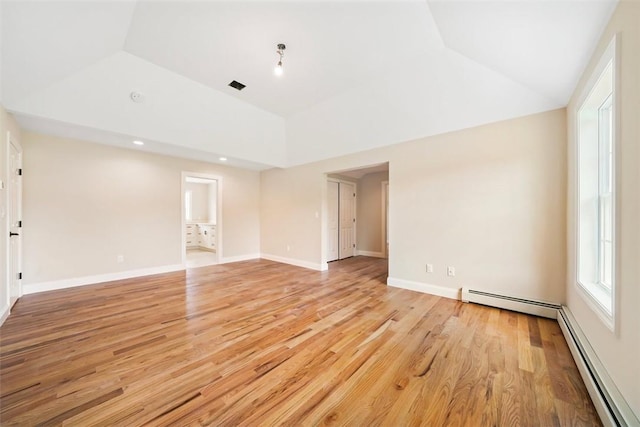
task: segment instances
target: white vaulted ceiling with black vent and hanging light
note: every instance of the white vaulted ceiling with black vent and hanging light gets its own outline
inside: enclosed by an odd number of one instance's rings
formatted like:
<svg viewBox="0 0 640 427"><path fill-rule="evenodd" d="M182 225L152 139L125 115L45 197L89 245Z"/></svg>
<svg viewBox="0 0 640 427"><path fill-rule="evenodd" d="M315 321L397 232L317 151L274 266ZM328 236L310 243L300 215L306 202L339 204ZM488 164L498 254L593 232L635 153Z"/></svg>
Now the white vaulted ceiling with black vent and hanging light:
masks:
<svg viewBox="0 0 640 427"><path fill-rule="evenodd" d="M562 107L615 4L3 0L2 104L31 130L285 167Z"/></svg>

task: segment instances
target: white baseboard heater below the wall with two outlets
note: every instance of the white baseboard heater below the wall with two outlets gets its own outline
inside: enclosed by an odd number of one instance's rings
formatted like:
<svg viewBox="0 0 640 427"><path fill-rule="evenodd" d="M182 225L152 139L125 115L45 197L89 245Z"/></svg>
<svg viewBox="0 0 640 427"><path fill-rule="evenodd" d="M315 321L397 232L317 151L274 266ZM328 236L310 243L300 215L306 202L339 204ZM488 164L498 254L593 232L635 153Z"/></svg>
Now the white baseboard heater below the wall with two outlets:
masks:
<svg viewBox="0 0 640 427"><path fill-rule="evenodd" d="M462 288L462 301L504 308L506 310L533 314L540 317L548 317L549 319L556 319L558 317L558 310L561 308L560 304L493 294L469 288Z"/></svg>

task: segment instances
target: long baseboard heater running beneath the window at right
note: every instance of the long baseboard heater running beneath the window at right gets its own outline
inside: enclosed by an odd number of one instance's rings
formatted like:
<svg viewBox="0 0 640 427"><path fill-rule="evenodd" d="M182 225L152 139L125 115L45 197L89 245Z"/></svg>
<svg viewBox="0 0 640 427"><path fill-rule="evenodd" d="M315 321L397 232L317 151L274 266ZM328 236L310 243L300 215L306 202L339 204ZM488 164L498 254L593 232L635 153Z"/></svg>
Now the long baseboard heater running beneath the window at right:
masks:
<svg viewBox="0 0 640 427"><path fill-rule="evenodd" d="M607 373L568 307L558 310L558 323L593 405L604 426L637 426L640 420Z"/></svg>

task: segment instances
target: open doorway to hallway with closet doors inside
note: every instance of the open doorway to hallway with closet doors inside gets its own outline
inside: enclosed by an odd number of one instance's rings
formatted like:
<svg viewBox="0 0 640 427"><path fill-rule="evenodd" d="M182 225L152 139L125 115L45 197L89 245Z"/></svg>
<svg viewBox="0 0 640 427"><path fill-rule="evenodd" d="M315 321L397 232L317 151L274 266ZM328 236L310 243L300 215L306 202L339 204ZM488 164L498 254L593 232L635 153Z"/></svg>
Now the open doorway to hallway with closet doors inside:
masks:
<svg viewBox="0 0 640 427"><path fill-rule="evenodd" d="M326 261L388 258L389 163L327 174Z"/></svg>

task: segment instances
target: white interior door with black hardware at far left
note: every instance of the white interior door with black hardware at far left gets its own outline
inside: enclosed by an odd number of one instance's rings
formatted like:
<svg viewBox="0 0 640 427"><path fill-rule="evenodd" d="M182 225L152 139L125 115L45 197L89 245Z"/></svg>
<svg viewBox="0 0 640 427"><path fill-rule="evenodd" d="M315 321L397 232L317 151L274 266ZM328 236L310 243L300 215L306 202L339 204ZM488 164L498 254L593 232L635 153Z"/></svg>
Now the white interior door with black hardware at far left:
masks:
<svg viewBox="0 0 640 427"><path fill-rule="evenodd" d="M22 295L22 147L9 135L9 304Z"/></svg>

